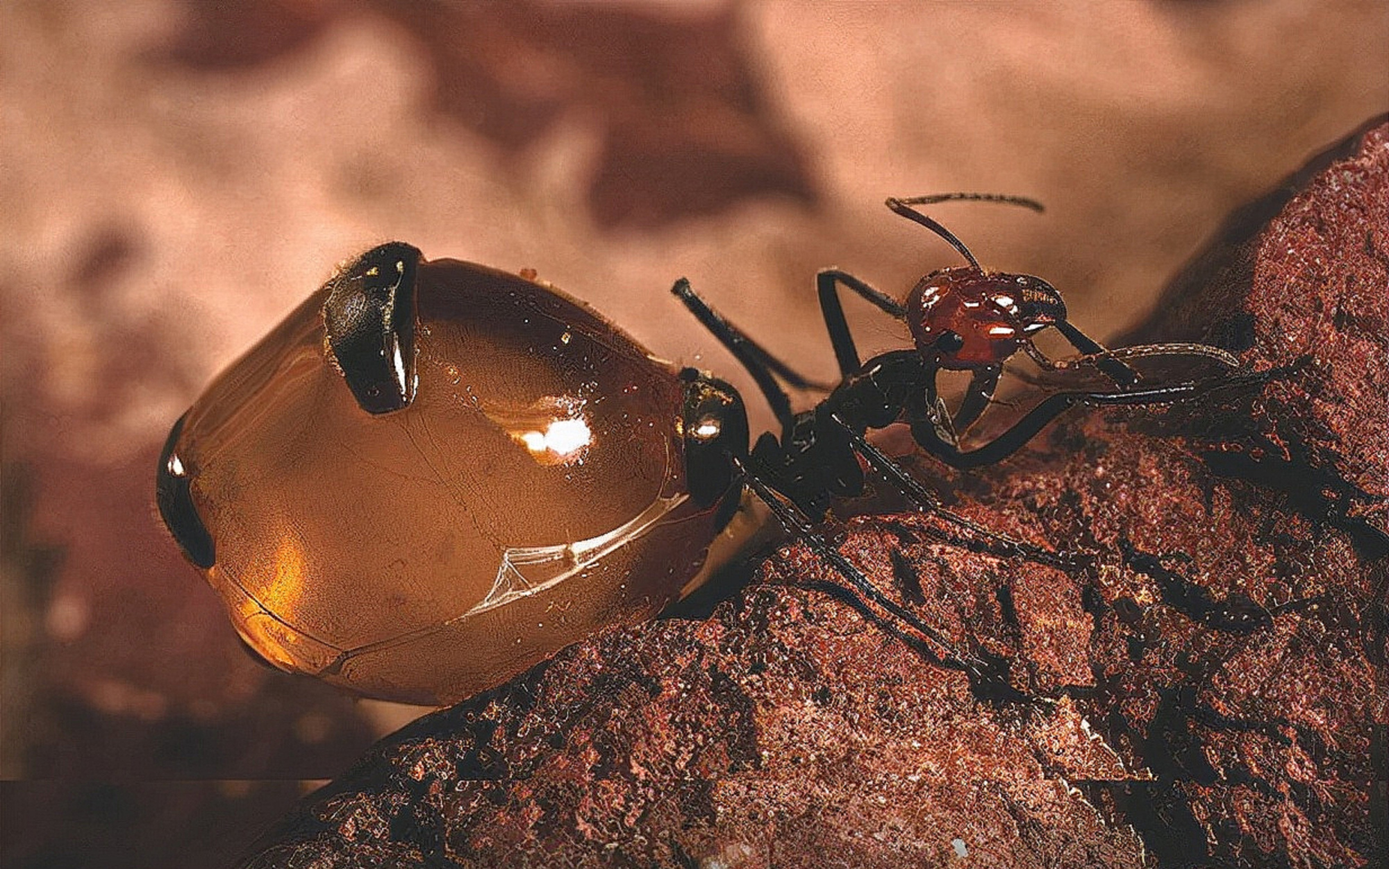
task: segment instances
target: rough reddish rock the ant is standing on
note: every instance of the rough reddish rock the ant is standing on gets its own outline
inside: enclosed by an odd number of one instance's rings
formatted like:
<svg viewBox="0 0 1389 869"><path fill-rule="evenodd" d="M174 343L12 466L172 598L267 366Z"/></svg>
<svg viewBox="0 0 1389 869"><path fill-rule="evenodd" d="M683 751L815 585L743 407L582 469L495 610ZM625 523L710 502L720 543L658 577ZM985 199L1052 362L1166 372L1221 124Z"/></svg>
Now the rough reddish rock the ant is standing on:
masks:
<svg viewBox="0 0 1389 869"><path fill-rule="evenodd" d="M1297 189L1140 333L1290 373L1081 414L953 480L1090 569L849 523L842 551L999 677L793 544L707 621L606 632L388 737L247 865L1382 863L1389 125Z"/></svg>

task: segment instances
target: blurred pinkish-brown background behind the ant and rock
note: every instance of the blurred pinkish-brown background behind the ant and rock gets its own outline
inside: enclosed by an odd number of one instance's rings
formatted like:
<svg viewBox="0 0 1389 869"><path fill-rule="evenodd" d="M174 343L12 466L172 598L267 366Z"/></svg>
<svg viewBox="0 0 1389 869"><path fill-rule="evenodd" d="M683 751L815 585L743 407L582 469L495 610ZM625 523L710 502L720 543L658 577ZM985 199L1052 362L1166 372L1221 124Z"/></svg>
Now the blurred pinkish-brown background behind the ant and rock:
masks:
<svg viewBox="0 0 1389 869"><path fill-rule="evenodd" d="M169 423L339 260L531 267L750 390L676 276L829 378L815 269L904 293L951 257L882 200L1006 192L1049 211L938 215L1115 333L1389 107L1385 46L1378 0L0 4L4 865L219 865L414 714L253 665L154 519Z"/></svg>

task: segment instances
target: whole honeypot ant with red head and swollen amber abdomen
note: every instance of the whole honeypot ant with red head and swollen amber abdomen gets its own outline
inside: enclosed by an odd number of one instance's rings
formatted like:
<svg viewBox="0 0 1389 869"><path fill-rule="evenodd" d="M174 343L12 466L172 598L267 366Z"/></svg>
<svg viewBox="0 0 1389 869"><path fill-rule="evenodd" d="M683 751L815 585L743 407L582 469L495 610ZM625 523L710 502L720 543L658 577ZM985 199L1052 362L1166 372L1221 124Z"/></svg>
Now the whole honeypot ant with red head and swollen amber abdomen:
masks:
<svg viewBox="0 0 1389 869"><path fill-rule="evenodd" d="M749 448L728 383L653 358L557 289L482 265L425 261L404 243L343 267L174 425L160 457L160 514L238 633L272 665L361 694L449 702L492 687L608 625L650 618L707 577L706 555L745 491L840 573L854 594L925 637L939 661L988 666L882 594L815 528L825 504L863 490L857 457L924 511L943 539L999 555L1068 564L945 509L868 443L904 419L914 440L967 468L1017 451L1075 404L1150 404L1201 394L1238 373L1149 387L1124 360L1195 355L1200 344L1122 351L1065 319L1050 285L983 271L914 205L893 211L949 242L970 267L926 275L900 304L839 271L820 301L842 382L793 414L781 382L810 382L694 294L674 292L740 360L782 432ZM860 362L838 285L911 328L915 348ZM1031 336L1056 328L1082 357L1053 362ZM1111 391L1043 400L970 451L979 418L1018 350L1043 366L1093 364ZM971 372L950 414L940 371Z"/></svg>

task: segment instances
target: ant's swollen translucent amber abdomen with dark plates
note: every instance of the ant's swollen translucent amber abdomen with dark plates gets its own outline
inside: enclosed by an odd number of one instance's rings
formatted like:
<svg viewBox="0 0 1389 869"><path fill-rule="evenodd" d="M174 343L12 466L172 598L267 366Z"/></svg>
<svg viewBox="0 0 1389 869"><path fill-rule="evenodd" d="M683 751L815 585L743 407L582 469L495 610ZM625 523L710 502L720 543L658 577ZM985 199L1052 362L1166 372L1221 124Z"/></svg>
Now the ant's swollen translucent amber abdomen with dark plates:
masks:
<svg viewBox="0 0 1389 869"><path fill-rule="evenodd" d="M193 404L160 505L258 655L451 701L696 579L732 478L692 496L686 450L747 423L689 389L550 286L386 244Z"/></svg>

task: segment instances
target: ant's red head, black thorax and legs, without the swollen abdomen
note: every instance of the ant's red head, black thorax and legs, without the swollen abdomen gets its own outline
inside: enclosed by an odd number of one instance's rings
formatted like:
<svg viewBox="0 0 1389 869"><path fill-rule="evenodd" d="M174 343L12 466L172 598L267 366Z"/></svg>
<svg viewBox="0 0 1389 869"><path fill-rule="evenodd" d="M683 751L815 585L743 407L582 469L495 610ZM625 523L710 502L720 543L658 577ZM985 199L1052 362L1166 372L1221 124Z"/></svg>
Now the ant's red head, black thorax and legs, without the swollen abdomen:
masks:
<svg viewBox="0 0 1389 869"><path fill-rule="evenodd" d="M1228 371L1238 369L1239 361L1218 347L1196 343L1107 350L1067 319L1061 293L1050 283L1033 275L983 269L954 233L915 208L953 200L1001 203L1042 211L1040 203L1031 199L986 193L889 199L886 205L892 211L942 237L968 261L968 265L925 275L907 293L904 303L849 272L821 271L817 275L821 314L842 379L822 401L800 414L792 412L789 396L778 378L800 389L813 386L807 378L724 319L690 289L688 280L676 280L671 292L742 362L781 423L781 437L764 433L750 455L728 450L735 468L735 475L729 480L735 486L729 491L738 491L736 483L751 489L771 507L788 532L831 562L858 594L928 637L942 661L960 665L972 676L983 676L981 661L953 651L938 632L920 619L906 615L838 550L825 544L822 537L813 532L810 516L821 515L833 497L853 497L864 490L858 457L890 480L917 509L939 516L965 534L956 537L936 532L943 540L1063 568L1075 566L1083 562L1085 557L1053 552L1014 540L946 509L918 480L865 439L867 429L906 422L917 446L953 468L967 469L1003 461L1025 446L1049 422L1078 404L1164 404L1200 396L1214 386L1258 385L1265 382L1268 375L1226 373L1218 379L1143 386L1142 376L1124 360L1190 357L1213 361ZM843 314L840 286L853 290L889 317L903 321L911 332L915 347L892 350L864 362ZM1065 337L1079 355L1053 360L1043 354L1033 344L1032 336L1047 326ZM1045 371L1093 365L1115 385L1117 390L1054 393L993 440L963 451L960 436L979 419L992 401L1003 364L1020 351ZM942 371L965 371L971 375L965 396L953 414L939 393ZM722 476L714 479L721 483L724 480ZM725 505L728 504L725 501Z"/></svg>

